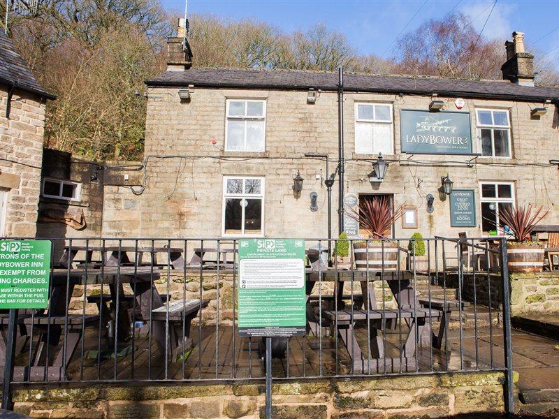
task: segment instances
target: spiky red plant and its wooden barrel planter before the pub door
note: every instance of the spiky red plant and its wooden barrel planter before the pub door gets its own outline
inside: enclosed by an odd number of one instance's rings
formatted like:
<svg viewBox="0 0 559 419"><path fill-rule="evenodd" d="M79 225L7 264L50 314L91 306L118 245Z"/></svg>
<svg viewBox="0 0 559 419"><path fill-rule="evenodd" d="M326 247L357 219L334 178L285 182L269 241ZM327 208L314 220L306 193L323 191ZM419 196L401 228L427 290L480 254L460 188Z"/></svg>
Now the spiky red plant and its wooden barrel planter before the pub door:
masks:
<svg viewBox="0 0 559 419"><path fill-rule="evenodd" d="M392 210L390 200L384 196L364 200L348 215L359 222L369 235L363 242L354 242L354 259L357 270L394 271L398 268L398 244L386 238L392 224L402 216L402 207Z"/></svg>

